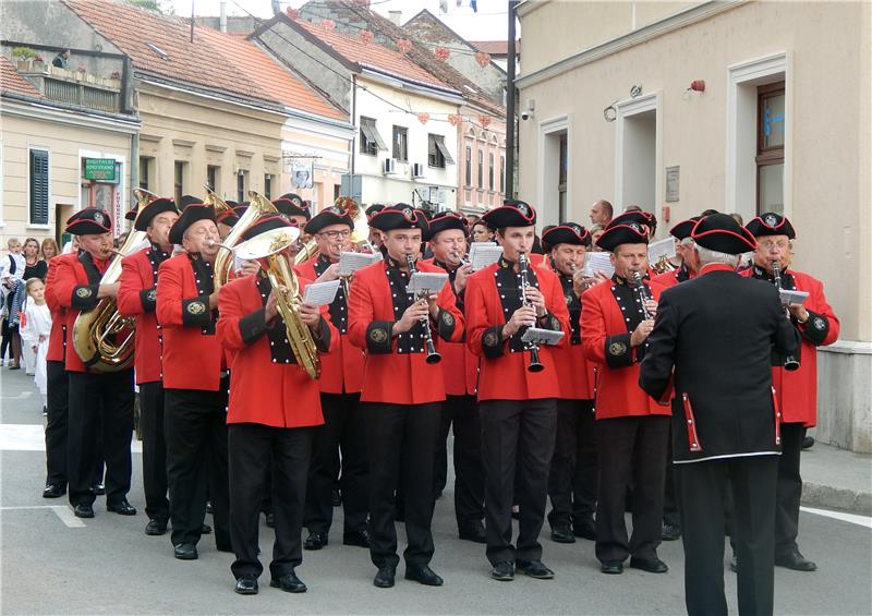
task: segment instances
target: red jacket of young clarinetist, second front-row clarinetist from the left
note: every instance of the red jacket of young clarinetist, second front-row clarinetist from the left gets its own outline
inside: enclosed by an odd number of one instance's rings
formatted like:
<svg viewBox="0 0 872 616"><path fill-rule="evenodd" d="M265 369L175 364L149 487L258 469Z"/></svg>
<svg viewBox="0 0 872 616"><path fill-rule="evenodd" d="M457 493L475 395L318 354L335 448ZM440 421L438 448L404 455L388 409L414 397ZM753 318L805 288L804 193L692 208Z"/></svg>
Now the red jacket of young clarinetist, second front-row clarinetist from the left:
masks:
<svg viewBox="0 0 872 616"><path fill-rule="evenodd" d="M555 365L555 349L569 343L569 312L557 276L544 268L535 267L538 288L548 309L548 328L564 331L557 347L543 346L540 361L545 370L530 372L530 353L511 351L509 340L502 339L502 327L511 317L504 313L500 290L497 287L497 270L502 261L481 269L467 279L467 343L470 350L482 358L479 378L479 400L530 400L559 398L560 386ZM541 327L541 325L540 325Z"/></svg>

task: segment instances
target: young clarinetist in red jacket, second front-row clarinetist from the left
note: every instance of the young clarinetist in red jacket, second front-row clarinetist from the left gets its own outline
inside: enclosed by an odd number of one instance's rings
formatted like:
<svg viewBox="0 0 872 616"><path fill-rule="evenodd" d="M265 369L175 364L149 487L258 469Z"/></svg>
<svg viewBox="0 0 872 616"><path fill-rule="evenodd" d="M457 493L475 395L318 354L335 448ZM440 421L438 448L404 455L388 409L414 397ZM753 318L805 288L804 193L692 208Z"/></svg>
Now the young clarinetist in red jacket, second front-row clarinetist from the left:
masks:
<svg viewBox="0 0 872 616"><path fill-rule="evenodd" d="M528 326L568 334L569 313L553 271L535 267L530 259L525 281L521 274L520 255L529 258L533 247L535 210L524 202L511 201L482 219L497 230L502 246L498 263L470 276L464 297L467 342L482 359L479 415L491 577L511 580L517 566L533 578L550 579L554 572L542 564L538 534L545 517L560 388L553 349L543 347L544 370L530 372L532 354L521 335ZM520 468L519 494L514 494L516 468ZM511 544L514 503L520 505L517 548Z"/></svg>

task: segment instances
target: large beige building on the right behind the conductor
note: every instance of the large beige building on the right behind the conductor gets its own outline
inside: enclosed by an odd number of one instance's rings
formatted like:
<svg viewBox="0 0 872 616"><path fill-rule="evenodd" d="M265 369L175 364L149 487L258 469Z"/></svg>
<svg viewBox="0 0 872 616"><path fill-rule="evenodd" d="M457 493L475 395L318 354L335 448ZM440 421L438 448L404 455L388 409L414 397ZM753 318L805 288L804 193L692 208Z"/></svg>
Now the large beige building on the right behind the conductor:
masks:
<svg viewBox="0 0 872 616"><path fill-rule="evenodd" d="M519 194L542 222L586 222L597 198L654 212L661 237L705 208L783 212L797 269L841 319L819 353L816 435L872 450L872 4L525 0L518 14Z"/></svg>

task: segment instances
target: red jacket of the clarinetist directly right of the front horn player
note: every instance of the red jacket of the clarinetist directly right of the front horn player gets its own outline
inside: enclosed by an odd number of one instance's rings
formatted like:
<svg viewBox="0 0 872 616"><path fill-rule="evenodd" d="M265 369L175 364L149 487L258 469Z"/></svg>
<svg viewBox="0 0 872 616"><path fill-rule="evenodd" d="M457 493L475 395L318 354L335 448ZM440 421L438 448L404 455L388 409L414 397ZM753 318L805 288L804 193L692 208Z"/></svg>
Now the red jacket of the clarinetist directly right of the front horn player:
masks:
<svg viewBox="0 0 872 616"><path fill-rule="evenodd" d="M354 274L349 299L351 343L366 350L361 401L389 404L425 404L445 400L445 359L436 364L425 361L425 352L398 352L399 337L391 337L398 318L393 314L391 286L387 277L388 259ZM419 262L421 271L443 271L440 267ZM455 293L446 285L438 294L441 309L437 324L431 322L437 337L458 342L463 336L463 315ZM408 339L408 333L403 335ZM423 349L419 348L419 351Z"/></svg>

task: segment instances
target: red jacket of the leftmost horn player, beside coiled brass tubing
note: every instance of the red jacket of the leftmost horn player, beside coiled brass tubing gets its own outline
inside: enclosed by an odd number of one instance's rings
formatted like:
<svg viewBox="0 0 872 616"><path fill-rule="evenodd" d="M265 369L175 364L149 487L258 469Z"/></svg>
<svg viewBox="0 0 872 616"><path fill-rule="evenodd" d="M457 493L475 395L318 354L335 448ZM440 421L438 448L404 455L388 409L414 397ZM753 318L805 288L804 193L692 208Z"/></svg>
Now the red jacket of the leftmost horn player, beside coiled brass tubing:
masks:
<svg viewBox="0 0 872 616"><path fill-rule="evenodd" d="M70 253L69 257L61 258L57 264L57 271L52 280L55 298L61 307L64 309L64 322L66 324L68 337L72 336L73 324L82 311L92 310L99 302L97 299L99 282L92 283L88 280L88 275L85 271L82 259L93 263L96 267L96 271L99 273L100 276L102 276L110 263L110 259L90 259L89 255L87 255L87 253ZM55 259L52 259L52 263L53 261ZM99 280L99 278L93 278ZM120 334L120 336L124 335L124 333ZM71 372L94 372L88 371L85 364L82 363L82 359L78 357L78 353L75 352L72 341L64 348L64 361L66 362L66 370Z"/></svg>

